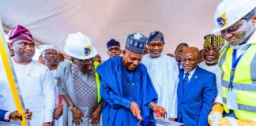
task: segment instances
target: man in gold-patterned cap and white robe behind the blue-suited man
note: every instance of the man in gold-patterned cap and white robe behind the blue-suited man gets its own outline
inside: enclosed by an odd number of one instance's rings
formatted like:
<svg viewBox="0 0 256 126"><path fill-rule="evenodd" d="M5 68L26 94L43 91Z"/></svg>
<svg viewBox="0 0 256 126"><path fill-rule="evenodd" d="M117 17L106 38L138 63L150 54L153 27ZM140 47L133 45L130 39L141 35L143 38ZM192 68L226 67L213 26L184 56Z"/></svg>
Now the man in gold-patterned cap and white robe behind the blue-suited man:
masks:
<svg viewBox="0 0 256 126"><path fill-rule="evenodd" d="M221 69L218 63L221 47L224 45L224 39L219 35L206 35L204 43L204 59L199 65L201 69L205 69L209 72L213 72L216 75L216 87L218 94L215 98L215 103L223 103L222 88L221 88Z"/></svg>

